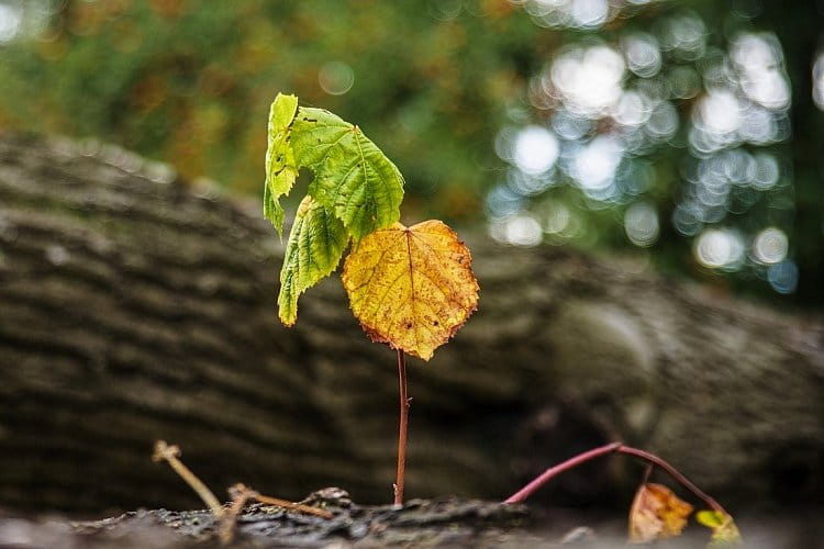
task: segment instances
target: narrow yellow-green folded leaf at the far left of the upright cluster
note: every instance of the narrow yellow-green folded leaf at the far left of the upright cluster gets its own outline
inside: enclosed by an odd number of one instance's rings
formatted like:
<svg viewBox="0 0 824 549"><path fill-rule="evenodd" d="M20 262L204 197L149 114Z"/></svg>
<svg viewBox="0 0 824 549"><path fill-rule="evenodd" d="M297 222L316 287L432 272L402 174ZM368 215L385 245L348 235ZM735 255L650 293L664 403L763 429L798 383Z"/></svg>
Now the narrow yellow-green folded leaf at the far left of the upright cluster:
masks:
<svg viewBox="0 0 824 549"><path fill-rule="evenodd" d="M298 98L278 93L269 109L268 146L266 148L266 188L264 215L283 234L283 206L280 197L289 194L298 176L294 155L289 144L291 124L298 110Z"/></svg>

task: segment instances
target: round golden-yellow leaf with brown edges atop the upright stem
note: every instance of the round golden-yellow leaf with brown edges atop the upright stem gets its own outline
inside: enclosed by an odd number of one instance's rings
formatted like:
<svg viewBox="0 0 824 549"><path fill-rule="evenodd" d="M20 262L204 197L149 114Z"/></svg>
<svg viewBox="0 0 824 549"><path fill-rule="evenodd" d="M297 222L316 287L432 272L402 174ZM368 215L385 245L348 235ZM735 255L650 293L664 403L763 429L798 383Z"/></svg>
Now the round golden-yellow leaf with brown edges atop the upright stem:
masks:
<svg viewBox="0 0 824 549"><path fill-rule="evenodd" d="M478 305L469 249L439 221L396 223L367 235L346 258L341 278L374 341L424 360Z"/></svg>

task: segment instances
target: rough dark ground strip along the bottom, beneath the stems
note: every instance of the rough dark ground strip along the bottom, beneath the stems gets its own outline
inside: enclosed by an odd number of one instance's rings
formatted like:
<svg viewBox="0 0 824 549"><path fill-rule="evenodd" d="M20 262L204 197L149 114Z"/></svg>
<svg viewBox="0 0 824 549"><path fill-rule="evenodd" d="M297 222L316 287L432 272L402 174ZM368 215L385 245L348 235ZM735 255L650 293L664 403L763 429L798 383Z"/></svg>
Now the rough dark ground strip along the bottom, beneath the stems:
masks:
<svg viewBox="0 0 824 549"><path fill-rule="evenodd" d="M0 512L0 548L611 548L625 547L624 518L592 511L531 511L472 500L411 500L402 507L361 506L341 489L311 494L305 504L332 518L253 504L244 508L222 545L221 523L209 511L137 511L103 520L20 518ZM821 547L821 509L746 516L738 520L747 548ZM664 548L703 548L705 529L691 526Z"/></svg>

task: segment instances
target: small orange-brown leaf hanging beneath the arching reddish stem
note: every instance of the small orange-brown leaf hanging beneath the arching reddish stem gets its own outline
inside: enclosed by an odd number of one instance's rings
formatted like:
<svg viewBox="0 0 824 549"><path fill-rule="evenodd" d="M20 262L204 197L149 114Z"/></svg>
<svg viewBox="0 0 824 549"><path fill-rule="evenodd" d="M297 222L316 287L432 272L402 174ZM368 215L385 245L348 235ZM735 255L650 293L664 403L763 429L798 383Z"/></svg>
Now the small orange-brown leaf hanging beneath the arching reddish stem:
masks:
<svg viewBox="0 0 824 549"><path fill-rule="evenodd" d="M630 509L630 541L646 544L679 536L692 505L661 484L642 484Z"/></svg>

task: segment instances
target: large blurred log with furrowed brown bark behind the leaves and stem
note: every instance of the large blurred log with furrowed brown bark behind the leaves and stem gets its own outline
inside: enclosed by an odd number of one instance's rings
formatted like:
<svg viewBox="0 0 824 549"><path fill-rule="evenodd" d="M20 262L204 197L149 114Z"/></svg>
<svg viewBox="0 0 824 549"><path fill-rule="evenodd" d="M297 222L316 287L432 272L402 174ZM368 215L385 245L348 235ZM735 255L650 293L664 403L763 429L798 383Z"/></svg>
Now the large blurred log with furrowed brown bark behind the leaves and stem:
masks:
<svg viewBox="0 0 824 549"><path fill-rule="evenodd" d="M215 489L391 501L393 351L337 277L281 327L282 245L257 204L172 179L114 147L0 137L0 505L197 505L151 462L158 438ZM480 309L409 365L410 496L502 498L621 439L721 498L821 498L819 320L468 235ZM603 501L641 475L604 463L547 494Z"/></svg>

